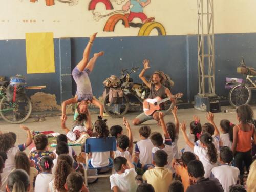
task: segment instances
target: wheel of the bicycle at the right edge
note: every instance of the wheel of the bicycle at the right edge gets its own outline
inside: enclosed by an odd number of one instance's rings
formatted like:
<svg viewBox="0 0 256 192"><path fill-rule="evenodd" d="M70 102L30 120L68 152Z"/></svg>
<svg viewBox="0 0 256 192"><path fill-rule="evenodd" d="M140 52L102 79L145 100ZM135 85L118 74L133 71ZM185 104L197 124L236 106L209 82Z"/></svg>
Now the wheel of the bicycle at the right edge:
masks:
<svg viewBox="0 0 256 192"><path fill-rule="evenodd" d="M248 104L251 100L251 89L246 84L237 84L230 90L228 100L234 108Z"/></svg>

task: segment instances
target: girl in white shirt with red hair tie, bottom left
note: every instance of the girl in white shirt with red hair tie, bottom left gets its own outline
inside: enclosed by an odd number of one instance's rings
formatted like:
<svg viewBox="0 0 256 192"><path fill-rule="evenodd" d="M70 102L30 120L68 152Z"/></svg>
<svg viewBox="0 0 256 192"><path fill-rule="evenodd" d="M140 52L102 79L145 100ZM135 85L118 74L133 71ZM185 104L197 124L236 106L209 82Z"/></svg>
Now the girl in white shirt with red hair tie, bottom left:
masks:
<svg viewBox="0 0 256 192"><path fill-rule="evenodd" d="M36 176L35 180L35 192L47 192L48 185L53 180L54 175L52 174L53 162L49 156L44 156L39 160L39 167L41 173Z"/></svg>

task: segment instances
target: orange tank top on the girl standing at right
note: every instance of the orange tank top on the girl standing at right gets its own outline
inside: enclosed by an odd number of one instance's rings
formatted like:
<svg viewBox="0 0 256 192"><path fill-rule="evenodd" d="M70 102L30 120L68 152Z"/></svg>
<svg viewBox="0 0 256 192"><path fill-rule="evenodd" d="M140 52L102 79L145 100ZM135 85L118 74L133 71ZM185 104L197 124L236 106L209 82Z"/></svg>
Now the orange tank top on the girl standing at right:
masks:
<svg viewBox="0 0 256 192"><path fill-rule="evenodd" d="M251 130L245 132L241 130L240 125L238 125L238 145L237 145L237 152L247 152L249 151L251 146L251 137L253 135L253 124L250 124Z"/></svg>

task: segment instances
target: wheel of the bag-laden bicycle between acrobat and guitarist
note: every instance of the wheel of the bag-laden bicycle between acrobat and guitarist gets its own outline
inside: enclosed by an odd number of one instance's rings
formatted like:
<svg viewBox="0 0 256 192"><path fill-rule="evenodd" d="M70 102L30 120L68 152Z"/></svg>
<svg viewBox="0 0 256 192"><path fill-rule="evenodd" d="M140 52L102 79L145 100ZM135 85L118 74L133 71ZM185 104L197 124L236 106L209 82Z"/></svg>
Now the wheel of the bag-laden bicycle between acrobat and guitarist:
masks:
<svg viewBox="0 0 256 192"><path fill-rule="evenodd" d="M105 112L113 117L113 118L119 118L123 117L129 109L129 99L126 95L123 94L122 99L120 99L119 103L110 103L109 102L109 93L106 94L104 99L104 110Z"/></svg>

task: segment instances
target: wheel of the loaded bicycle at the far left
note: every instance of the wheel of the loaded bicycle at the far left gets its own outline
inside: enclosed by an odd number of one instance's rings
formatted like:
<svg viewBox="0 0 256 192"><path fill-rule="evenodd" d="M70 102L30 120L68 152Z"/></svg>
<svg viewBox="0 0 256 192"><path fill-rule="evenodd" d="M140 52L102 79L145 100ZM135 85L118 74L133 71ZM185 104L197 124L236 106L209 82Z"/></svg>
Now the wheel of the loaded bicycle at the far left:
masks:
<svg viewBox="0 0 256 192"><path fill-rule="evenodd" d="M31 112L32 103L28 96L16 102L8 102L5 97L0 101L0 115L9 123L22 123L29 118Z"/></svg>

